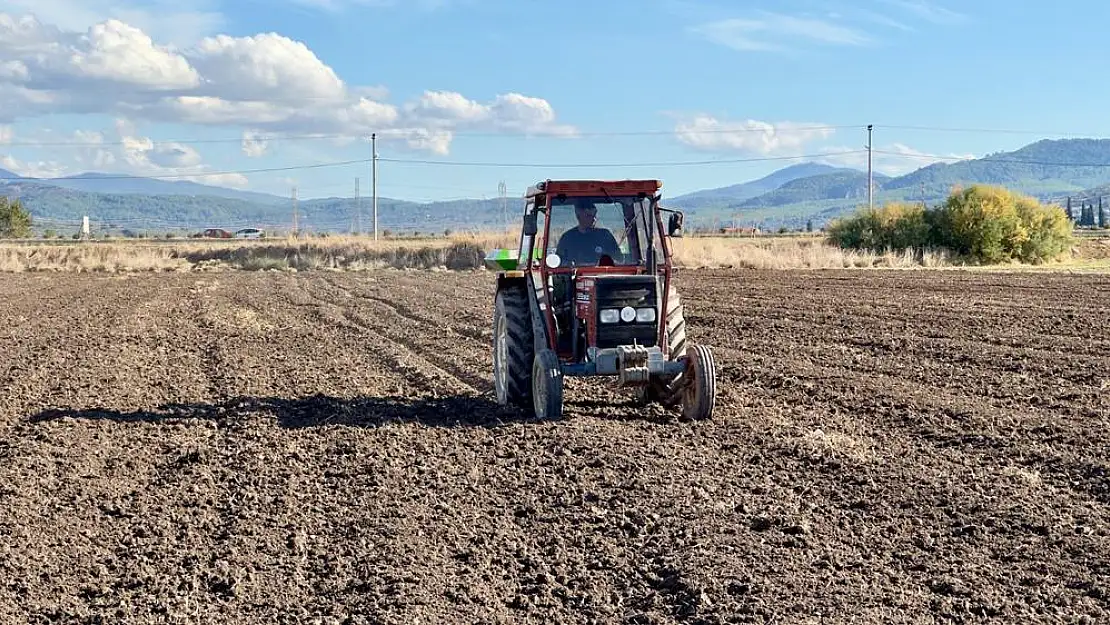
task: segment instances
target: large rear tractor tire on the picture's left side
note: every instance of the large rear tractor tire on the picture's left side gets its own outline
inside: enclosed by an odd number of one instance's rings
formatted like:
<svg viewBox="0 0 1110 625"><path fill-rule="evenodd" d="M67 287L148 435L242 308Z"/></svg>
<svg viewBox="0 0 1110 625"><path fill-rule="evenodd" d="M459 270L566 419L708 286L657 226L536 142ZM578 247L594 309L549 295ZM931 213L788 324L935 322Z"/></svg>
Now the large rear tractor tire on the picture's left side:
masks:
<svg viewBox="0 0 1110 625"><path fill-rule="evenodd" d="M535 344L532 309L524 286L497 291L493 317L493 379L497 403L532 410Z"/></svg>

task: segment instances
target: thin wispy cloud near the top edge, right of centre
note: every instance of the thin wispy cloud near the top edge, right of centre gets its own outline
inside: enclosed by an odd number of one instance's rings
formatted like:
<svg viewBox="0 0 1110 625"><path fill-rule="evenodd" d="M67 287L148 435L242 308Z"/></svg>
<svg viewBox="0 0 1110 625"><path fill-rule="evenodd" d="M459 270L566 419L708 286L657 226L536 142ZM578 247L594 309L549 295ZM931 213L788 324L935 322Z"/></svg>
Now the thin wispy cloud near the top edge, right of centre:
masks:
<svg viewBox="0 0 1110 625"><path fill-rule="evenodd" d="M693 32L719 46L741 51L780 51L799 42L830 46L866 46L864 31L830 20L759 12L753 18L733 18L694 27Z"/></svg>

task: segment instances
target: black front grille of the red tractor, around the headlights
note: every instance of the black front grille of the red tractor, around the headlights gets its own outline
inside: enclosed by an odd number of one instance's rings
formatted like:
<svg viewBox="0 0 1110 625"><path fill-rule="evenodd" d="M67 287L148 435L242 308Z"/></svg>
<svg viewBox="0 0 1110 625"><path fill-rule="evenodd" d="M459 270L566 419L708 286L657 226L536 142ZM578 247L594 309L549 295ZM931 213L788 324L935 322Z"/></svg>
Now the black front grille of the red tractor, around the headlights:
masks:
<svg viewBox="0 0 1110 625"><path fill-rule="evenodd" d="M659 315L659 281L654 275L613 275L597 279L597 314L603 309L654 308ZM658 342L658 319L655 323L597 323L597 346L601 349L630 345L654 346Z"/></svg>

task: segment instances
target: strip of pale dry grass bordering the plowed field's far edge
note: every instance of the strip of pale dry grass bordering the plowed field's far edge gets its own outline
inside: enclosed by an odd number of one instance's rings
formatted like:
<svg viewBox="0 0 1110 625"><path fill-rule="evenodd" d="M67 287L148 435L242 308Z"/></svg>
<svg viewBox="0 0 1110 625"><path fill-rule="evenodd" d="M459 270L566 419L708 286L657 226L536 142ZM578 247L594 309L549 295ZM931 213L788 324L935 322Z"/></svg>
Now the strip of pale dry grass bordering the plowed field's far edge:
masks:
<svg viewBox="0 0 1110 625"><path fill-rule="evenodd" d="M119 240L0 243L0 272L150 272L239 269L248 271L363 271L393 269L468 270L486 252L515 248L516 232L461 233L447 238L244 240ZM953 266L942 252L857 252L819 236L687 236L672 241L676 262L686 268L741 269L915 269ZM1082 241L1076 261L1102 262L1106 240ZM1067 269L1068 264L1060 265ZM980 268L990 269L990 268ZM1012 269L1012 268L1011 268ZM1045 269L1045 268L1042 268Z"/></svg>

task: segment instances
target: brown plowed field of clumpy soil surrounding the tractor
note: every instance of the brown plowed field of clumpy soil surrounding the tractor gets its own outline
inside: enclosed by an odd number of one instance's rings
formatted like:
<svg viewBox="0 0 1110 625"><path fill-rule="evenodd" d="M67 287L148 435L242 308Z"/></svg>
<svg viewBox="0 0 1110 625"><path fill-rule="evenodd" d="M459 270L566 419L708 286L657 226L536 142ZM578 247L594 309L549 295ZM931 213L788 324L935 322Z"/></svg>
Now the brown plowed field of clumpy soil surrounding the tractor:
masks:
<svg viewBox="0 0 1110 625"><path fill-rule="evenodd" d="M487 273L0 276L0 622L1110 619L1110 280L684 272L712 422Z"/></svg>

